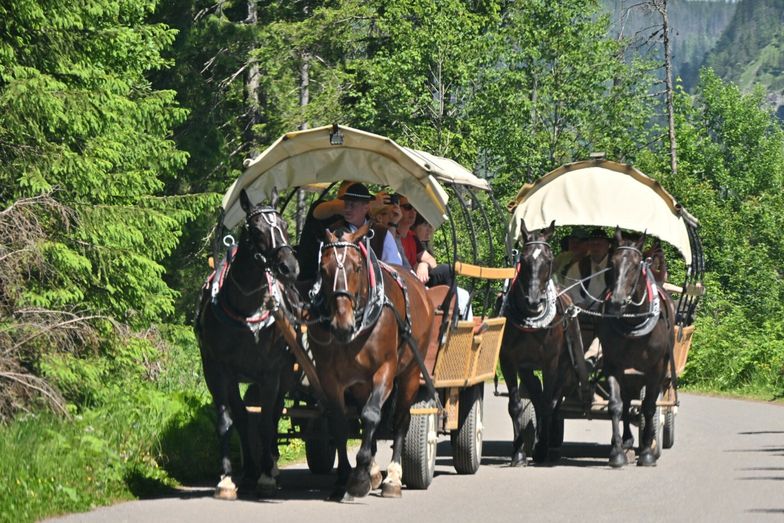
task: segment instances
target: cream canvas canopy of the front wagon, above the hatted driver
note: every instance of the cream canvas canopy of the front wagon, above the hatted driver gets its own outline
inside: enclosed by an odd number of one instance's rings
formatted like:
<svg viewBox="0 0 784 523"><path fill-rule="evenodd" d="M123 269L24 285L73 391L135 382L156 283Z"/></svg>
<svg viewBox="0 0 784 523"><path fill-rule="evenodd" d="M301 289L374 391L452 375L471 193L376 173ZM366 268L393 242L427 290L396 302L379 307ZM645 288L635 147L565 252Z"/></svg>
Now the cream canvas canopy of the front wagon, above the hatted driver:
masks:
<svg viewBox="0 0 784 523"><path fill-rule="evenodd" d="M244 217L239 205L242 189L251 201L258 202L268 198L275 188L343 180L385 185L405 195L436 227L446 219L448 201L439 182L490 189L485 180L453 160L336 125L287 133L254 160L246 160L245 167L223 197L223 223L228 228Z"/></svg>

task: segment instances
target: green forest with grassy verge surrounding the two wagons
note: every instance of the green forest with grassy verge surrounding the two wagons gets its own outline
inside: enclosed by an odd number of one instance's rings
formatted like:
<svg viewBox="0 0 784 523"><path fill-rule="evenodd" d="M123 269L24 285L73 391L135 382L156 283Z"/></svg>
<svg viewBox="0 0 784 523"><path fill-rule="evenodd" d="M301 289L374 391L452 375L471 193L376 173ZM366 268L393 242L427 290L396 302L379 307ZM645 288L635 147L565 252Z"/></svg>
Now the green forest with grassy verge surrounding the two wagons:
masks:
<svg viewBox="0 0 784 523"><path fill-rule="evenodd" d="M784 396L784 6L667 2L702 20L673 19L673 172L663 3L0 5L0 520L217 477L190 322L220 195L333 122L454 158L502 202L592 151L634 164L702 224L683 383Z"/></svg>

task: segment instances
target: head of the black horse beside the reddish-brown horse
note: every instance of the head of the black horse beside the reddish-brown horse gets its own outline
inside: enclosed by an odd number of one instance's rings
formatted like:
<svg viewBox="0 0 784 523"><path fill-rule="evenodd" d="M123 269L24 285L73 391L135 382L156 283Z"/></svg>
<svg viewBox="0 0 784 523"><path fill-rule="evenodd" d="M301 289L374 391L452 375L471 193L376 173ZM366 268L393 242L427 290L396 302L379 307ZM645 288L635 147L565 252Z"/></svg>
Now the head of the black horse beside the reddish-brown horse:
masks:
<svg viewBox="0 0 784 523"><path fill-rule="evenodd" d="M299 275L299 262L289 243L288 225L275 210L276 204L277 191L273 190L270 205L253 205L245 189L240 192L240 205L245 211L241 242L261 269L270 269L277 277L291 283Z"/></svg>

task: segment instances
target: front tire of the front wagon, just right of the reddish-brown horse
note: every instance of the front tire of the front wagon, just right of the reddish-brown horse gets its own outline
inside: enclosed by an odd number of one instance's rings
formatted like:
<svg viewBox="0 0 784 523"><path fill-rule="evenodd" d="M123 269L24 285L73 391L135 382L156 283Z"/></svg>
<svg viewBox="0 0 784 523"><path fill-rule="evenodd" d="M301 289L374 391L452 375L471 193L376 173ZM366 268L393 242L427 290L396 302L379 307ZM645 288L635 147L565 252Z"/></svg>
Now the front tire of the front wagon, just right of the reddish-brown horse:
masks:
<svg viewBox="0 0 784 523"><path fill-rule="evenodd" d="M435 408L434 400L418 401L413 408ZM436 472L438 427L436 414L411 416L403 441L403 483L410 489L425 490Z"/></svg>

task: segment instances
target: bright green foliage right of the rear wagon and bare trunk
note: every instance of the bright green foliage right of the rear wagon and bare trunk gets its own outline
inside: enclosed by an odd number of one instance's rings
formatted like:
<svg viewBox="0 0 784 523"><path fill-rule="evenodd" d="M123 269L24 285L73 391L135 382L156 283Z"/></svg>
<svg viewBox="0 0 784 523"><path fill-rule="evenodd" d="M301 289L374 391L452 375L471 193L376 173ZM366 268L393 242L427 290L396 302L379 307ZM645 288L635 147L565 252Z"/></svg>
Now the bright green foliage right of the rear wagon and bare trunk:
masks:
<svg viewBox="0 0 784 523"><path fill-rule="evenodd" d="M711 70L696 97L679 94L677 114L677 175L663 151L641 167L702 225L708 293L687 381L782 395L784 130L761 91L744 95Z"/></svg>

